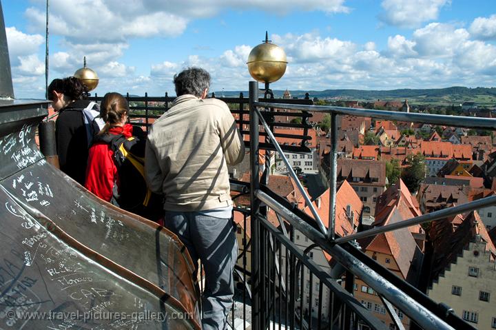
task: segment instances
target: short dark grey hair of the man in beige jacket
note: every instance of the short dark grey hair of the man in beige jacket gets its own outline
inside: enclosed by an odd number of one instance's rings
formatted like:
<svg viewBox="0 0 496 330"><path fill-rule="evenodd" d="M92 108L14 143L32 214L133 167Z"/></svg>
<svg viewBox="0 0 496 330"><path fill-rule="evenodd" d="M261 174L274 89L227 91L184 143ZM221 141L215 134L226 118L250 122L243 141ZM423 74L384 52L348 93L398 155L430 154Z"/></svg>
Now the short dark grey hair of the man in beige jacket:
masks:
<svg viewBox="0 0 496 330"><path fill-rule="evenodd" d="M210 74L202 68L187 68L174 74L174 85L176 85L176 95L192 94L200 97L205 88L210 87Z"/></svg>

